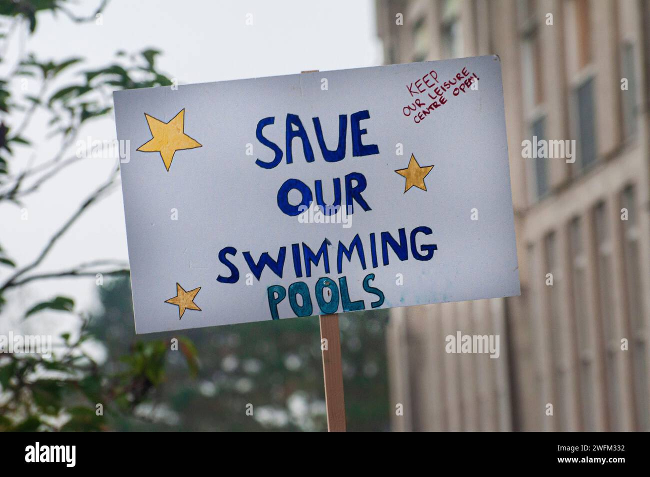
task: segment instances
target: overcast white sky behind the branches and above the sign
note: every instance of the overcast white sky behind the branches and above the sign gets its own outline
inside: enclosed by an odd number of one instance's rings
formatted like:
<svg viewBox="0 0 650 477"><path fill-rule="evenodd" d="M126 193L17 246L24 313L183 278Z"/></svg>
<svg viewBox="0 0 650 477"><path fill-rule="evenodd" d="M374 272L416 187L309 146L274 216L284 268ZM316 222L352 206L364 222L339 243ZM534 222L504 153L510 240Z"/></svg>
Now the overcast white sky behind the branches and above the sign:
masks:
<svg viewBox="0 0 650 477"><path fill-rule="evenodd" d="M99 0L80 4L75 12L89 14ZM247 14L252 14L253 25L246 25ZM34 36L28 38L24 31L18 34L25 40L23 51L34 51L40 59L81 56L93 66L113 61L120 49L135 52L157 48L163 52L159 69L177 77L181 84L357 68L382 62L372 0L112 0L101 25L79 25L64 16L42 14ZM19 54L20 44L12 43L8 63ZM35 84L29 87L36 89ZM27 136L38 144L36 161L44 161L55 150L53 144L39 139L45 131L44 116L36 119ZM19 120L10 118L14 124ZM112 118L88 126L81 138L87 136L114 139ZM22 160L26 162L27 156ZM1 206L0 244L19 265L32 260L113 166L114 161L109 159L86 159L67 169L25 202L27 221L21 220L18 207ZM119 188L69 230L39 270L54 271L104 258L127 260ZM5 270L0 270L0 279L6 276ZM75 298L81 308L92 307L96 301L95 280L47 280L10 295L10 306L0 320L0 333L9 323L15 324L25 308L59 294ZM52 313L45 321L59 319ZM33 325L28 323L24 333L43 332L44 320L27 321Z"/></svg>

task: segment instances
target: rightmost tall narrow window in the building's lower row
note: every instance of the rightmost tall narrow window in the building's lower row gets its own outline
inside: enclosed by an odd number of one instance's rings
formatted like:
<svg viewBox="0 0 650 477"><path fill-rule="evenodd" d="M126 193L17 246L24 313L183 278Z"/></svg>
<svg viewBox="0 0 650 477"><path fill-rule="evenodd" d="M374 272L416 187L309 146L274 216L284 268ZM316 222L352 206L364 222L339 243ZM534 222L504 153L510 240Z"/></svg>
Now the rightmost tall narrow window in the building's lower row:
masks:
<svg viewBox="0 0 650 477"><path fill-rule="evenodd" d="M639 253L638 208L636 192L630 185L621 194L621 206L627 210L623 226L623 266L625 267L625 303L632 353L632 374L634 379L634 403L640 431L650 431L650 408L648 396L648 368L646 361L647 342L643 321L641 290L641 258Z"/></svg>

